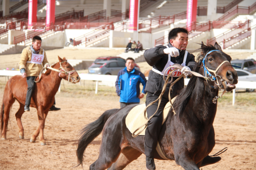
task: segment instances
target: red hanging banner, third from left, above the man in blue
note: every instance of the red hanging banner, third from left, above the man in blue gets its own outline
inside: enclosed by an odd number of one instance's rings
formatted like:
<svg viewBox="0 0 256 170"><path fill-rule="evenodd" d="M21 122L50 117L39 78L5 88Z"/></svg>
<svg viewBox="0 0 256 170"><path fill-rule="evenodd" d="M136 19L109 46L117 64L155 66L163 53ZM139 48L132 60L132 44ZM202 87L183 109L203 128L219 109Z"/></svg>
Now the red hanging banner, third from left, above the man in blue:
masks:
<svg viewBox="0 0 256 170"><path fill-rule="evenodd" d="M137 25L138 25L138 0L130 0L129 30L137 31Z"/></svg>

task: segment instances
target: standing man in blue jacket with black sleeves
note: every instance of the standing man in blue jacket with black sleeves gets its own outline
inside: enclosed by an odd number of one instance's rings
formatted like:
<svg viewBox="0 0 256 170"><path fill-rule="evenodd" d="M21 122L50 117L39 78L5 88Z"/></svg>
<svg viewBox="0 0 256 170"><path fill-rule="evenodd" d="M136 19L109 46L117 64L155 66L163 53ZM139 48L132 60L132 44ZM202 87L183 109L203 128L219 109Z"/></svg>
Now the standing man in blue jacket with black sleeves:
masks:
<svg viewBox="0 0 256 170"><path fill-rule="evenodd" d="M127 58L125 62L125 69L118 72L118 77L115 82L115 88L118 96L120 96L121 108L140 103L140 98L146 94L146 78L142 72L134 68L135 62L133 58ZM143 85L140 93L140 83Z"/></svg>

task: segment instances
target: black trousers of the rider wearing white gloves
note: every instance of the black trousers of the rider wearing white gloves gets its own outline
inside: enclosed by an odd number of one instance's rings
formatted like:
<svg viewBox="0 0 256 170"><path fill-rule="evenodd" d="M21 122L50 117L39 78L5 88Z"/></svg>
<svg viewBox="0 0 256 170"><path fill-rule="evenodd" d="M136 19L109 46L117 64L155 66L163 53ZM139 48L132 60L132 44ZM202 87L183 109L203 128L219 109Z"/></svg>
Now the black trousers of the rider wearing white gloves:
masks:
<svg viewBox="0 0 256 170"><path fill-rule="evenodd" d="M146 98L146 106L149 105L152 101L155 101L158 97L159 97L158 95L153 95L152 93L148 92L148 95ZM168 97L168 95L165 95L162 97L162 101L160 103L158 111L152 117L152 119L148 122L148 127L146 128L146 131L145 131L145 144L144 144L145 155L149 157L154 156L155 148L157 146L158 135L161 131L162 121L163 121L162 113L165 108L165 105L169 101L169 99L166 97ZM158 101L147 108L148 118L155 113L157 106L158 106Z"/></svg>

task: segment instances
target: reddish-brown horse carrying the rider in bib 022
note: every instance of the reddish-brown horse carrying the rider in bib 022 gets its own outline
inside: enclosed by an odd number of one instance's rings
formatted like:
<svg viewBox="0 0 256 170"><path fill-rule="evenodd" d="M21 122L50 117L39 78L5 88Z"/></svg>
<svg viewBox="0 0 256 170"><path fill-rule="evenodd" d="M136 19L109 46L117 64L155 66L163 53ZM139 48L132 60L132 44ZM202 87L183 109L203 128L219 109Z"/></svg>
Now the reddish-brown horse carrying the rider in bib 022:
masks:
<svg viewBox="0 0 256 170"><path fill-rule="evenodd" d="M39 140L41 145L45 145L44 140L44 123L48 114L49 108L54 103L54 96L58 91L61 84L61 79L69 80L72 83L80 81L80 77L75 69L67 62L65 58L59 58L59 62L52 65L52 68L62 71L57 72L48 69L43 75L40 82L36 83L34 92L31 98L30 106L37 108L39 126L37 130L32 134L30 141L35 142L37 136L40 133ZM68 74L74 70L72 74ZM66 74L65 74L66 73ZM38 79L38 78L37 78ZM3 94L3 105L1 108L1 139L5 140L7 134L7 125L9 120L10 108L14 101L17 100L20 103L20 108L15 114L17 124L19 127L19 137L24 139L24 129L21 124L21 116L24 113L24 105L27 94L27 82L26 78L22 78L21 75L15 75L10 78L5 86Z"/></svg>

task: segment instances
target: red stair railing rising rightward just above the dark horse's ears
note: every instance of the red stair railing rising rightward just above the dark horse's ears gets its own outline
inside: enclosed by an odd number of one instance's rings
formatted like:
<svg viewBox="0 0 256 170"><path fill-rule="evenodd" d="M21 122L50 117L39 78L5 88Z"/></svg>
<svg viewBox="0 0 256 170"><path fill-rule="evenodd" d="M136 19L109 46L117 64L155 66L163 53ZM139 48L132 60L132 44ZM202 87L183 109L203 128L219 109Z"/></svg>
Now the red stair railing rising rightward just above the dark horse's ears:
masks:
<svg viewBox="0 0 256 170"><path fill-rule="evenodd" d="M207 43L214 45L215 42L223 43L223 49L234 45L235 43L251 36L251 23L246 21L245 23L240 23L232 30L228 30L221 35L214 37L212 39L207 39Z"/></svg>

